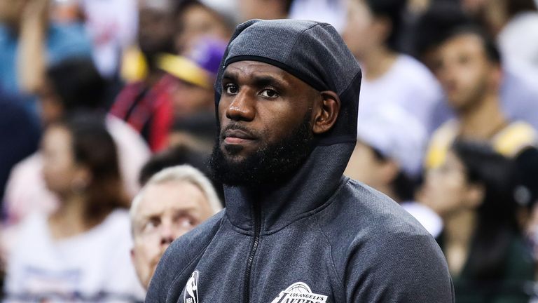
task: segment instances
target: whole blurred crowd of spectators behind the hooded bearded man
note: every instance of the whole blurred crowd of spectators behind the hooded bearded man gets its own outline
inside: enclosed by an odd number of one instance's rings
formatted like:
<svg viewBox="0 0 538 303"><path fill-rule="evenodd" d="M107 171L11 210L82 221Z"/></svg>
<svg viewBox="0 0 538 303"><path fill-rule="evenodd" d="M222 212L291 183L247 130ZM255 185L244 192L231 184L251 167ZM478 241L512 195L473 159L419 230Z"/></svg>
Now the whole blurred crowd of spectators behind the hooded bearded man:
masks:
<svg viewBox="0 0 538 303"><path fill-rule="evenodd" d="M206 159L233 29L298 18L330 22L363 72L345 174L436 238L456 302L538 302L537 6L0 0L4 298L142 301L167 245L221 209Z"/></svg>

